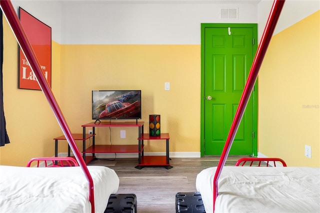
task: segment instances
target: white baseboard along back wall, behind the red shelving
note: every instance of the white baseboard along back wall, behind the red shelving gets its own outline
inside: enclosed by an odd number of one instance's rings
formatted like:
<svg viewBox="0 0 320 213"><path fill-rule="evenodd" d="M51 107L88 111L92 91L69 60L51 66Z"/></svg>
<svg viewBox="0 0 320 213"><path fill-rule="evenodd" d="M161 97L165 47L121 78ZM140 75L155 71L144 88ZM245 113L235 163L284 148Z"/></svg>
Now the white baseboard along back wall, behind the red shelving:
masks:
<svg viewBox="0 0 320 213"><path fill-rule="evenodd" d="M72 155L72 154L71 154ZM86 153L86 156L90 156L91 153ZM145 156L148 155L165 155L165 152L144 152ZM65 157L67 156L67 152L59 152L58 153L59 157ZM95 156L97 158L112 158L115 156L115 153L95 153ZM116 157L118 158L134 158L138 157L137 153L116 153ZM197 151L177 151L177 152L169 152L169 157L200 157L200 152Z"/></svg>

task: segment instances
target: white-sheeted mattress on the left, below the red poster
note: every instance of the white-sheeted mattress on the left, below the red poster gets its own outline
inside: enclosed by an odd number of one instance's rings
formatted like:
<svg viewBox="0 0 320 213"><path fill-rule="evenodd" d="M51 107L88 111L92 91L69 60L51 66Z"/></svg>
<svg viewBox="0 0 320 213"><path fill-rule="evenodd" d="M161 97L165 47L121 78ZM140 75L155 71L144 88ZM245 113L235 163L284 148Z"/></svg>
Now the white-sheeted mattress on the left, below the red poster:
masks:
<svg viewBox="0 0 320 213"><path fill-rule="evenodd" d="M88 166L95 212L103 212L119 178L113 169ZM0 165L0 212L91 212L88 182L76 167Z"/></svg>

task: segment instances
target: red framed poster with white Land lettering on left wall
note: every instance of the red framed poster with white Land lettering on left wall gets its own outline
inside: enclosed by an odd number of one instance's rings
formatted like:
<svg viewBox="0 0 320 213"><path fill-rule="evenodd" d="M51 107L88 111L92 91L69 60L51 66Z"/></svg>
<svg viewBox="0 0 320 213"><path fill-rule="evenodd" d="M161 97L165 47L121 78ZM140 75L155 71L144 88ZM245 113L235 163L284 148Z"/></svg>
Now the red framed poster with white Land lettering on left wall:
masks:
<svg viewBox="0 0 320 213"><path fill-rule="evenodd" d="M51 87L51 27L21 7L19 7L19 17L41 70ZM41 90L21 48L19 48L19 88Z"/></svg>

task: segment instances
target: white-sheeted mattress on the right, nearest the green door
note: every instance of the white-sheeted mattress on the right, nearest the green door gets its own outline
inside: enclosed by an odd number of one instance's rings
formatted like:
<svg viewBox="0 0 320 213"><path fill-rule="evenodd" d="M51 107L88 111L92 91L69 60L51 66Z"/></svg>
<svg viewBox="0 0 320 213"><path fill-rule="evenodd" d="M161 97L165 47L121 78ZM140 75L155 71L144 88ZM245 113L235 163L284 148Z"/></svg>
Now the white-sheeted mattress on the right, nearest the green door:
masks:
<svg viewBox="0 0 320 213"><path fill-rule="evenodd" d="M215 169L196 177L207 213ZM224 166L214 212L320 212L320 168Z"/></svg>

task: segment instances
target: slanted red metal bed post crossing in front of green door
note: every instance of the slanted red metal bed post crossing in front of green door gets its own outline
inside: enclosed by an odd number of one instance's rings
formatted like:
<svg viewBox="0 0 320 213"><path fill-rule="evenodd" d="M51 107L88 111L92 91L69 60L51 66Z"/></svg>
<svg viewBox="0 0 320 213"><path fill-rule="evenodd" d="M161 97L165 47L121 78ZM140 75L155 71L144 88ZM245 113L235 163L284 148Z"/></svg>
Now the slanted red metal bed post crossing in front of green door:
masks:
<svg viewBox="0 0 320 213"><path fill-rule="evenodd" d="M239 101L238 108L236 109L229 134L226 138L224 148L222 150L221 157L220 157L220 160L217 165L217 168L216 168L216 171L214 174L214 178L213 178L213 212L214 212L215 199L218 195L217 180L220 176L222 167L224 166L224 163L226 161L227 155L228 155L229 150L231 148L234 136L236 134L236 131L237 131L238 126L240 124L245 107L246 107L247 102L249 100L252 88L254 86L255 80L256 80L258 72L259 72L259 68L262 64L263 57L265 55L266 49L267 49L269 42L271 40L272 33L274 31L276 22L280 16L284 1L285 0L274 0L273 1L271 11L269 13L269 17L268 17L268 20L266 22L266 25L265 25L265 28L264 28L264 31L263 31L263 34L261 37L260 44L259 44L258 49L256 51L255 57L253 59L253 63L252 63L248 78L246 80L246 83L245 83L245 86L244 86L244 89L243 89L243 92L242 92L242 95L241 95L241 98Z"/></svg>

